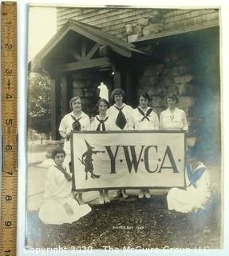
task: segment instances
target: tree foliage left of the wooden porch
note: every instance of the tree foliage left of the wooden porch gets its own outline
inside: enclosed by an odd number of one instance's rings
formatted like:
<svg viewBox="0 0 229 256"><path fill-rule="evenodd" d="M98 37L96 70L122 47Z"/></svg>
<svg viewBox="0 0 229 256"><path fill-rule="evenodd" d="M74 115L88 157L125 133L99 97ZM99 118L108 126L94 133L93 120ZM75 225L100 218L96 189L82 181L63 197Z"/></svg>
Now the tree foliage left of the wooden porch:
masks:
<svg viewBox="0 0 229 256"><path fill-rule="evenodd" d="M28 126L47 135L51 131L51 80L47 74L30 73L28 86Z"/></svg>

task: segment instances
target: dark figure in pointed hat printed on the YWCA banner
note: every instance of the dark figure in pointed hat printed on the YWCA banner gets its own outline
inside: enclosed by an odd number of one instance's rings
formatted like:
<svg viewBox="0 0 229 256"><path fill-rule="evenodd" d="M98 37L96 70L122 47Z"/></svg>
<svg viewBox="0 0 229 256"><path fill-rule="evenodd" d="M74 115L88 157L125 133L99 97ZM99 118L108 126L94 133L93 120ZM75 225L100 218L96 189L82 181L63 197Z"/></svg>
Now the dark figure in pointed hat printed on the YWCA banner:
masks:
<svg viewBox="0 0 229 256"><path fill-rule="evenodd" d="M85 166L85 180L88 179L88 172L91 174L91 178L100 178L101 175L97 175L93 173L94 166L93 166L93 154L97 153L105 153L105 151L98 151L93 150L94 147L89 145L89 142L85 140L86 146L88 150L85 151L84 154L82 154L82 158L80 160L81 164Z"/></svg>

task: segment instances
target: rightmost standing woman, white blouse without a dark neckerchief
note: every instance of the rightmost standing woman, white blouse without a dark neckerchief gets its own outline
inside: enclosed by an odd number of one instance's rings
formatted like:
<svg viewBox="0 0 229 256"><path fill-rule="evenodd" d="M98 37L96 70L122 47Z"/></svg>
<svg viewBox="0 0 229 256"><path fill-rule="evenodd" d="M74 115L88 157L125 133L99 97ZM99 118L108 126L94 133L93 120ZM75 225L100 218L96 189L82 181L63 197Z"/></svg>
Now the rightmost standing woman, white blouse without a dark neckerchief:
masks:
<svg viewBox="0 0 229 256"><path fill-rule="evenodd" d="M179 99L175 94L168 94L168 109L160 113L160 130L188 130L188 122L184 110L176 107Z"/></svg>

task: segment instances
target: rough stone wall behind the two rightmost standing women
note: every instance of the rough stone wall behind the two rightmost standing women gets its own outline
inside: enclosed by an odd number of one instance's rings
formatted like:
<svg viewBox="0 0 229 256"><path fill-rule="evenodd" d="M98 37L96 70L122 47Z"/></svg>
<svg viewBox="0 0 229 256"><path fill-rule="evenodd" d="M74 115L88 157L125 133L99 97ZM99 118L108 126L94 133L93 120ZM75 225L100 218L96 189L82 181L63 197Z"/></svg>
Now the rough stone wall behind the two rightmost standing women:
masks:
<svg viewBox="0 0 229 256"><path fill-rule="evenodd" d="M191 122L195 119L191 109L195 106L193 91L195 85L192 80L195 76L189 68L188 58L182 51L168 52L164 58L156 64L146 63L140 72L139 90L147 91L154 111L160 116L160 112L167 108L165 97L176 94L179 97L178 107L184 110L188 117L189 135L195 136Z"/></svg>

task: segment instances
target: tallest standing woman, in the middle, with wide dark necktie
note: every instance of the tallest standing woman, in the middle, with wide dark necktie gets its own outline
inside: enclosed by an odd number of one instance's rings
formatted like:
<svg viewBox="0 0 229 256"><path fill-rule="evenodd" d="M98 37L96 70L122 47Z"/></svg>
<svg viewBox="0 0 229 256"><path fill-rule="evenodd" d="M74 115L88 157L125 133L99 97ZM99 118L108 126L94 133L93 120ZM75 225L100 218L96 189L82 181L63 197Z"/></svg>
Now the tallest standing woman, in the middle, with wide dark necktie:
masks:
<svg viewBox="0 0 229 256"><path fill-rule="evenodd" d="M107 111L111 119L111 130L128 130L132 107L124 103L124 91L120 88L113 90L111 96L114 104ZM115 197L118 198L120 195L128 198L126 190L117 190Z"/></svg>

